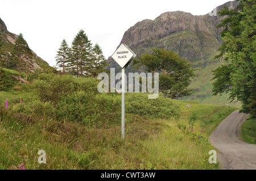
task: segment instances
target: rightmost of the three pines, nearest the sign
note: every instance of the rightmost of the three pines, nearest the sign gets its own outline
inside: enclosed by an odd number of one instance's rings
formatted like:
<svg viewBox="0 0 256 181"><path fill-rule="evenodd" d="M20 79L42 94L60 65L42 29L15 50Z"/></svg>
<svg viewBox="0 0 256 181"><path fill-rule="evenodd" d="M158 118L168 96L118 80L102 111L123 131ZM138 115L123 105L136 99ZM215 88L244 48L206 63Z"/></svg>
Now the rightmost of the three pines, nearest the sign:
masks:
<svg viewBox="0 0 256 181"><path fill-rule="evenodd" d="M107 65L108 64L103 55L100 45L95 44L93 47L93 69L90 74L93 77L97 77L99 73L107 71L106 69L104 69L104 67L106 67Z"/></svg>

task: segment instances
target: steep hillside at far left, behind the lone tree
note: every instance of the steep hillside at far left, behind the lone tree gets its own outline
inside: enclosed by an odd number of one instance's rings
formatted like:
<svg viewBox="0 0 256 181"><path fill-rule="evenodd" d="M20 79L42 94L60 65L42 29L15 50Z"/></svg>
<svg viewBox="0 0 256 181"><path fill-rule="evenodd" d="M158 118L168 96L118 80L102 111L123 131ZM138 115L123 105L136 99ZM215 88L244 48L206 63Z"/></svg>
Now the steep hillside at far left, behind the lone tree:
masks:
<svg viewBox="0 0 256 181"><path fill-rule="evenodd" d="M7 54L6 58L7 61L10 60L11 56L11 51L13 50L15 40L18 37L18 35L15 35L14 33L11 33L7 30L7 27L5 25L5 22L0 18L0 32L2 35L2 40L3 40L3 50ZM30 71L34 71L36 68L40 69L50 69L51 66L44 61L42 58L36 55L35 52L32 51L32 61L34 62L32 66L30 67Z"/></svg>

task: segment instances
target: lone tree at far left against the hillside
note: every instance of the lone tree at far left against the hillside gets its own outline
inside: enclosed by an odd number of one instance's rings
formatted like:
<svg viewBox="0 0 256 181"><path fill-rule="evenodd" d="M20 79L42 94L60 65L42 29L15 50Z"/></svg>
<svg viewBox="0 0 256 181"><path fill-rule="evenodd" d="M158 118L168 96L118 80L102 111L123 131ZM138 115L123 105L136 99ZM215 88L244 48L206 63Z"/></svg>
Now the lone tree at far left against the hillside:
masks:
<svg viewBox="0 0 256 181"><path fill-rule="evenodd" d="M21 71L26 69L26 80L28 75L28 68L32 64L32 50L28 47L26 40L24 40L22 33L19 34L15 40L13 51L11 52L13 66L19 71L19 78ZM25 67L24 67L25 66Z"/></svg>

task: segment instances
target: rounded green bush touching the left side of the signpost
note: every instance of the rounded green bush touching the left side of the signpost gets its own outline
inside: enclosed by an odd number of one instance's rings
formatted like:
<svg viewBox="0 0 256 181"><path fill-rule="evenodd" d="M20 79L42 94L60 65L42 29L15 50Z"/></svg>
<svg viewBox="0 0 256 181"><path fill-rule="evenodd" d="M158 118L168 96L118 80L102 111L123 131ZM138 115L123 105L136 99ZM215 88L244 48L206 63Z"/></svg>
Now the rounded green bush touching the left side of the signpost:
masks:
<svg viewBox="0 0 256 181"><path fill-rule="evenodd" d="M118 95L77 91L62 97L58 103L58 118L89 127L112 125L120 116L120 105Z"/></svg>

